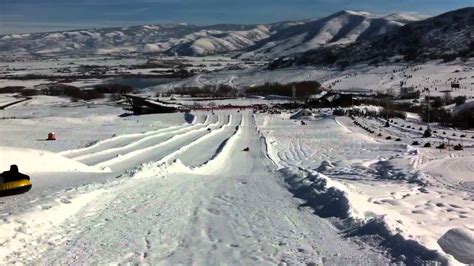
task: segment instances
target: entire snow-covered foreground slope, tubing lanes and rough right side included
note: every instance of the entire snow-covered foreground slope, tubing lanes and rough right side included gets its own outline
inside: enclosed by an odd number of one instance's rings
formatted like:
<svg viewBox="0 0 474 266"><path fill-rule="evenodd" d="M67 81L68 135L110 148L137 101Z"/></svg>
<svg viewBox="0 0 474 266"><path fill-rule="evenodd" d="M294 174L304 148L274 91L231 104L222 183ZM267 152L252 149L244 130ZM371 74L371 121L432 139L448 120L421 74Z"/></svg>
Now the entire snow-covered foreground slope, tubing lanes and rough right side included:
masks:
<svg viewBox="0 0 474 266"><path fill-rule="evenodd" d="M106 102L45 96L2 111L0 166L18 164L33 183L1 199L2 263L472 258L463 251L474 230L471 139L461 152L418 148L410 145L421 141L418 130L357 118L401 139L386 140L326 110L308 113L304 124L292 113L232 109L193 112L193 119L120 114ZM56 141L44 140L50 131ZM337 221L347 219L351 230L362 226L359 233L342 231ZM385 243L417 248L367 242L363 228L373 221L388 232ZM446 248L452 241L459 245Z"/></svg>

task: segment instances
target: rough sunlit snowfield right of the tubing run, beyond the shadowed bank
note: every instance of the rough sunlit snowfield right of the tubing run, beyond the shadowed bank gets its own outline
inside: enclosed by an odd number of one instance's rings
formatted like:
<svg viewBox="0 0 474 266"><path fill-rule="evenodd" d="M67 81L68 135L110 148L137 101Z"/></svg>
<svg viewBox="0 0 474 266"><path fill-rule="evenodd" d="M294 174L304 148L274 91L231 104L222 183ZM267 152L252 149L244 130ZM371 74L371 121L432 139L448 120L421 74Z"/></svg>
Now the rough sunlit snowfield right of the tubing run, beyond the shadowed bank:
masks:
<svg viewBox="0 0 474 266"><path fill-rule="evenodd" d="M440 152L410 146L413 140L427 140L419 132L384 128L383 121L360 119L383 133L377 137L346 117L323 115L305 121L306 125L288 118L283 114L258 119L271 158L282 168L314 169L315 177L308 179L329 180L325 182L348 199L349 216L366 221L384 217L393 234L439 252L444 248L438 239L446 231L474 230L472 140L466 140L464 145L470 148L463 152ZM387 135L393 139L386 140ZM439 144L443 139L434 136L430 141ZM472 250L462 254L474 257Z"/></svg>

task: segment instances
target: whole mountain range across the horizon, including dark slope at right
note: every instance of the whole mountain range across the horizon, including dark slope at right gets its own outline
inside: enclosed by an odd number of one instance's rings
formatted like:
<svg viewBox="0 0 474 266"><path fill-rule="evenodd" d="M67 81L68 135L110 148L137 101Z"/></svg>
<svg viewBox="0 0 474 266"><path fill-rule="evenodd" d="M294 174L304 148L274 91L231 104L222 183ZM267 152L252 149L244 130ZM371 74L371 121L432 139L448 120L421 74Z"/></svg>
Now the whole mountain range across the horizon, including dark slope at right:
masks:
<svg viewBox="0 0 474 266"><path fill-rule="evenodd" d="M225 54L274 60L273 67L350 64L472 54L474 8L419 20L341 11L319 19L261 25L142 25L0 35L0 56ZM471 49L471 51L469 51Z"/></svg>

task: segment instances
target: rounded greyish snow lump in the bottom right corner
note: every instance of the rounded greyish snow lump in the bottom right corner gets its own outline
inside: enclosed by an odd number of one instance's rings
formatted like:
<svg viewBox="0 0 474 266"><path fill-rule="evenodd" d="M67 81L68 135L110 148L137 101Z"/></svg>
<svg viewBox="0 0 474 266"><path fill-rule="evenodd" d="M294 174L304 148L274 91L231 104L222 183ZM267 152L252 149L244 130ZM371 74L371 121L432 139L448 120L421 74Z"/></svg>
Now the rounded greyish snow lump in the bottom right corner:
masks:
<svg viewBox="0 0 474 266"><path fill-rule="evenodd" d="M438 244L444 252L456 260L466 264L474 263L474 232L464 228L453 228L438 240Z"/></svg>

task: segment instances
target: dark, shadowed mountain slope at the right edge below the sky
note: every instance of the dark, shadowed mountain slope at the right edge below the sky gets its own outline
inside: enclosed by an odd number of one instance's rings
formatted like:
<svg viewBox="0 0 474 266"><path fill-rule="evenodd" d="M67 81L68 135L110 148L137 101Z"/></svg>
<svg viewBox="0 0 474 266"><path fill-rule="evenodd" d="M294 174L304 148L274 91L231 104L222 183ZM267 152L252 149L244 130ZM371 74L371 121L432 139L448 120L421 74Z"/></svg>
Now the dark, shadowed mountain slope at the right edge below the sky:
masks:
<svg viewBox="0 0 474 266"><path fill-rule="evenodd" d="M280 58L271 67L305 64L348 65L389 60L454 60L474 56L474 8L463 8L408 23L346 46L325 46Z"/></svg>

